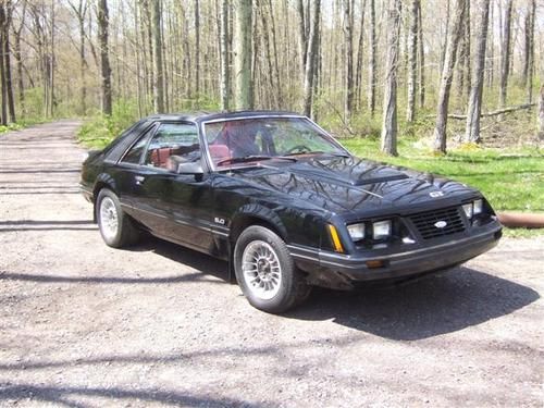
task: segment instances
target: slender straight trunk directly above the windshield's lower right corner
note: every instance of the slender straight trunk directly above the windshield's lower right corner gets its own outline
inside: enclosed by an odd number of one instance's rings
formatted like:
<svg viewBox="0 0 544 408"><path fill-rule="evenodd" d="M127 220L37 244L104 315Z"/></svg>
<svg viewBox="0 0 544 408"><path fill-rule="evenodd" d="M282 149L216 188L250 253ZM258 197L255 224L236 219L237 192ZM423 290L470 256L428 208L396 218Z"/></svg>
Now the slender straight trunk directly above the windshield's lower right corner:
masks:
<svg viewBox="0 0 544 408"><path fill-rule="evenodd" d="M344 2L344 122L349 124L354 110L354 27L351 24L351 0Z"/></svg>

